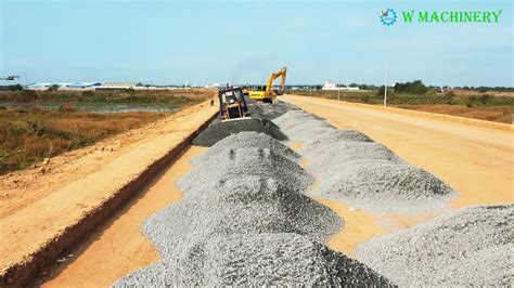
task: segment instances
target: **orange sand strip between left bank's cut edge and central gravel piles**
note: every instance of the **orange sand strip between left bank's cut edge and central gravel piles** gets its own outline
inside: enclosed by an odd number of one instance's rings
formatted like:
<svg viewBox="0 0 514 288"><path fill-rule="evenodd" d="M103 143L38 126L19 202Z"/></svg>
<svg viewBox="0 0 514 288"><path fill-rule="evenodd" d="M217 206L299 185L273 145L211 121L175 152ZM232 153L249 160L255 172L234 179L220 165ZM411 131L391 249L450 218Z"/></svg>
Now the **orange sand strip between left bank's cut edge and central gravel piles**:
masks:
<svg viewBox="0 0 514 288"><path fill-rule="evenodd" d="M91 235L60 266L43 287L108 287L128 273L144 267L160 257L141 234L140 224L162 208L183 197L175 182L187 174L190 159L207 149L191 146L140 197Z"/></svg>

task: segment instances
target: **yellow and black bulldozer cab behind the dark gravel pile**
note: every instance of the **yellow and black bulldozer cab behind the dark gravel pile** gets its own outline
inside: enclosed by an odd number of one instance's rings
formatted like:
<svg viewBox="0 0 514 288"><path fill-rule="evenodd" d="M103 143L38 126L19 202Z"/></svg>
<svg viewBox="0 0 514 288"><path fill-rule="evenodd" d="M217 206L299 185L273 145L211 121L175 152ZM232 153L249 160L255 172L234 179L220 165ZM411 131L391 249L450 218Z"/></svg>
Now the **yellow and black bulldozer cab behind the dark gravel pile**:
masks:
<svg viewBox="0 0 514 288"><path fill-rule="evenodd" d="M219 115L223 120L243 118L248 114L248 106L241 88L222 88L218 90Z"/></svg>

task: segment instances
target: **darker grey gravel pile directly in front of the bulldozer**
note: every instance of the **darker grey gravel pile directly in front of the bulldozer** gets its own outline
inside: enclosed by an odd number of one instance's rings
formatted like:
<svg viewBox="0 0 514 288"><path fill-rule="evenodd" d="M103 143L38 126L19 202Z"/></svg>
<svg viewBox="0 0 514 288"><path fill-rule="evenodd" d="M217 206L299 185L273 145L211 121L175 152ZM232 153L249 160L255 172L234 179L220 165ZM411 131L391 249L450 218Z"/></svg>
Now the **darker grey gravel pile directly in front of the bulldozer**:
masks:
<svg viewBox="0 0 514 288"><path fill-rule="evenodd" d="M239 118L228 121L217 121L209 125L195 139L193 145L210 147L218 141L244 131L266 133L279 141L287 140L287 136L268 119Z"/></svg>

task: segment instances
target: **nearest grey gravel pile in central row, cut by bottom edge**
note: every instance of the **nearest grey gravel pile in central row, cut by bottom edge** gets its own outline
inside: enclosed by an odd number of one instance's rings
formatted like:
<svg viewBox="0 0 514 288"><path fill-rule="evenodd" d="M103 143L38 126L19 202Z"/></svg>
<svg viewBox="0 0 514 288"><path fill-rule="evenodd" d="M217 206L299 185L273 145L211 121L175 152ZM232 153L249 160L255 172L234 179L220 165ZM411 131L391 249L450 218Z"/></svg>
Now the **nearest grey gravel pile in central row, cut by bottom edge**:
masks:
<svg viewBox="0 0 514 288"><path fill-rule="evenodd" d="M171 267L171 269L170 269ZM177 259L129 274L116 287L391 286L384 277L297 234L215 237Z"/></svg>

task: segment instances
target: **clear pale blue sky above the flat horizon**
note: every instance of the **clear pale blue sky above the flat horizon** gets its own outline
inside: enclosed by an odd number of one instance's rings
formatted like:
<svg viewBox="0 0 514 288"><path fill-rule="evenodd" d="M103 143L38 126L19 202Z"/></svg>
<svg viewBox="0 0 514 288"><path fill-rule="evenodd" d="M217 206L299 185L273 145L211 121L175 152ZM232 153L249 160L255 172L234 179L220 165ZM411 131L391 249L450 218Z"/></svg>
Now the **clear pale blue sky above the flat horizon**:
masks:
<svg viewBox="0 0 514 288"><path fill-rule="evenodd" d="M36 81L513 86L512 1L0 0L0 74ZM424 1L428 2L428 1ZM381 11L498 11L499 24L381 24Z"/></svg>

